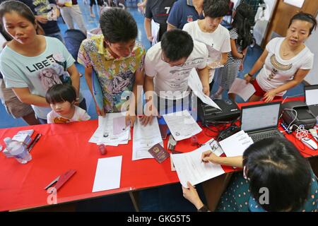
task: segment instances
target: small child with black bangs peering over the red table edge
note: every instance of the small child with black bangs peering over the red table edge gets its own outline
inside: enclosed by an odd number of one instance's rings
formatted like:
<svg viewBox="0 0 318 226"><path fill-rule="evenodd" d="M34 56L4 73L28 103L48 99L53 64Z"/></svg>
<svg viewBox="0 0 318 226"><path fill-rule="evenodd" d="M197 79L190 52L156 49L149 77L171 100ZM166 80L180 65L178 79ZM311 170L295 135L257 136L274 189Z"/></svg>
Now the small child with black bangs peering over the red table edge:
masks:
<svg viewBox="0 0 318 226"><path fill-rule="evenodd" d="M90 119L90 116L84 109L75 105L76 91L71 85L53 85L47 90L45 100L47 100L52 108L52 112L47 114L48 124L62 124Z"/></svg>

